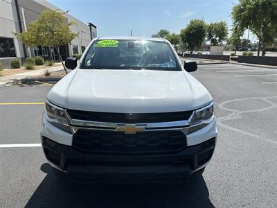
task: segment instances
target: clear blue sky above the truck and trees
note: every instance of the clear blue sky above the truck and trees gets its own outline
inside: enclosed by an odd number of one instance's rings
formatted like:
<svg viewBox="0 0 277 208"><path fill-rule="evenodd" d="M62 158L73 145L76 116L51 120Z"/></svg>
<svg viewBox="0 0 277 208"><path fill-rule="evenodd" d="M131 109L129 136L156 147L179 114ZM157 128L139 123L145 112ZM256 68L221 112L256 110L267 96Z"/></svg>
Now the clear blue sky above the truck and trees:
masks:
<svg viewBox="0 0 277 208"><path fill-rule="evenodd" d="M150 37L161 28L179 33L190 19L226 21L238 0L48 0L84 23L97 26L98 36ZM251 40L251 38L250 38Z"/></svg>

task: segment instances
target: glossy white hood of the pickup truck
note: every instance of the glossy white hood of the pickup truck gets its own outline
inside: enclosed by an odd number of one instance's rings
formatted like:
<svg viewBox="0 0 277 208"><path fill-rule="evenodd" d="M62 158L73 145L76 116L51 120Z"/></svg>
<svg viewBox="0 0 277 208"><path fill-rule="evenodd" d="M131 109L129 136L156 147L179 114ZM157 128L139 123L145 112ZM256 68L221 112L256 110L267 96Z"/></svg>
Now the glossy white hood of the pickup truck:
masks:
<svg viewBox="0 0 277 208"><path fill-rule="evenodd" d="M75 69L48 93L55 105L95 112L179 112L211 100L186 71Z"/></svg>

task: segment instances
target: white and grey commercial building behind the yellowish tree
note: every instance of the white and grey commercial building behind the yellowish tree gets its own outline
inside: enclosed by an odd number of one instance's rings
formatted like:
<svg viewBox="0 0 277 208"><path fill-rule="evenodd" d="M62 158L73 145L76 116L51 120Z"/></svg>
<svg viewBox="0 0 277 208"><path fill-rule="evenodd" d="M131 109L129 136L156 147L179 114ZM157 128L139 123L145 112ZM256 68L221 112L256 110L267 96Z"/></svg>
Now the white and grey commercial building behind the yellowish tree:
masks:
<svg viewBox="0 0 277 208"><path fill-rule="evenodd" d="M12 32L26 31L28 24L38 19L45 8L59 9L45 0L0 0L0 62L3 67L9 67L12 59L19 58L23 61L35 55L40 55L45 60L57 60L55 49L42 46L28 48L12 35ZM97 36L95 25L84 24L69 14L64 16L66 21L77 23L71 26L71 31L79 33L79 37L76 37L71 44L61 46L60 53L63 59L73 54L81 54L89 42Z"/></svg>

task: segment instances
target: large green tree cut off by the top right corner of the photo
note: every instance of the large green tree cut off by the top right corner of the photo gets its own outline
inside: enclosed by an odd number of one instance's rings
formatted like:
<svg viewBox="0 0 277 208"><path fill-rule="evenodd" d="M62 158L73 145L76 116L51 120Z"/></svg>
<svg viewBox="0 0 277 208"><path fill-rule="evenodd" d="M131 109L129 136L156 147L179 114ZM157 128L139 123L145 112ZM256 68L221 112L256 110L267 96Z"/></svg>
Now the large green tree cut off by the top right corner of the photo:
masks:
<svg viewBox="0 0 277 208"><path fill-rule="evenodd" d="M277 33L277 1L276 0L240 0L233 6L233 25L246 30L249 28L262 44L262 55L265 47L274 40Z"/></svg>

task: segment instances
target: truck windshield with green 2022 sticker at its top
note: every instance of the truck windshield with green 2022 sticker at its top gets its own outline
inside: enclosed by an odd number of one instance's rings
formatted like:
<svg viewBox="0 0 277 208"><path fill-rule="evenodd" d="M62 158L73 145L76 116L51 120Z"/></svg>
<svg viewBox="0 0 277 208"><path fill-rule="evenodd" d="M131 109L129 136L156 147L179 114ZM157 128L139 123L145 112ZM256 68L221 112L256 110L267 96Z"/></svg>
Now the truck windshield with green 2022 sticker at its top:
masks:
<svg viewBox="0 0 277 208"><path fill-rule="evenodd" d="M181 70L168 43L146 40L93 42L82 60L81 69Z"/></svg>

